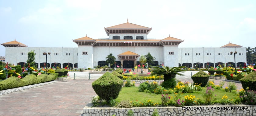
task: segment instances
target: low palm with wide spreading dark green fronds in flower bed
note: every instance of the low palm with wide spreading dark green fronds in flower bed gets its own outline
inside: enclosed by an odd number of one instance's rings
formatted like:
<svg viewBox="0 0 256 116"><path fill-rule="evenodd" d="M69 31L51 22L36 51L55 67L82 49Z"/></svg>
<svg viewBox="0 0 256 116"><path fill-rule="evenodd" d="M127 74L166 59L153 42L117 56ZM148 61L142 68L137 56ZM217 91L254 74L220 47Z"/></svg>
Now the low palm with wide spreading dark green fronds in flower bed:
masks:
<svg viewBox="0 0 256 116"><path fill-rule="evenodd" d="M184 68L185 66L180 67L168 67L168 66L162 66L162 68L154 66L152 67L151 75L164 75L164 81L167 81L169 79L175 78L176 75L184 76L180 72L183 72L181 68Z"/></svg>

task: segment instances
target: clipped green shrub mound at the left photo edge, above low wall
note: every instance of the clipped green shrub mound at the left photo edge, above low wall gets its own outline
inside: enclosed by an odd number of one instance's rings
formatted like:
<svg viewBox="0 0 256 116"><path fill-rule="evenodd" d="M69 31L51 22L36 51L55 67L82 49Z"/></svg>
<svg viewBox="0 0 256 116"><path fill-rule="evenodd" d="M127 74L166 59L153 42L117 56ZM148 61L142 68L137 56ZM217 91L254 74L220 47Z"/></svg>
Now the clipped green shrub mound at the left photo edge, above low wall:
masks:
<svg viewBox="0 0 256 116"><path fill-rule="evenodd" d="M0 90L20 87L21 79L18 77L9 77L6 80L0 81Z"/></svg>

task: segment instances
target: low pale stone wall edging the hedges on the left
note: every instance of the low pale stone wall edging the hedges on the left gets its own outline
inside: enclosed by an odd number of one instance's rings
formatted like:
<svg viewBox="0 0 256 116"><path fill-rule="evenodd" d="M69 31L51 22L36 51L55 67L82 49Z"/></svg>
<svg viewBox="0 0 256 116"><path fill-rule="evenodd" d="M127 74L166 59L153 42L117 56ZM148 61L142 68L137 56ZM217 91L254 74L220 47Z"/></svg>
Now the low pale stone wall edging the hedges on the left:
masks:
<svg viewBox="0 0 256 116"><path fill-rule="evenodd" d="M9 94L9 93L12 93L12 92L16 92L16 91L20 91L20 90L24 90L24 89L29 89L29 88L34 88L34 87L37 87L37 86L46 85L46 84L55 83L55 82L58 82L58 81L50 81L50 82L45 82L45 83L23 86L23 87L19 87L19 88L2 90L2 91L0 91L0 95Z"/></svg>

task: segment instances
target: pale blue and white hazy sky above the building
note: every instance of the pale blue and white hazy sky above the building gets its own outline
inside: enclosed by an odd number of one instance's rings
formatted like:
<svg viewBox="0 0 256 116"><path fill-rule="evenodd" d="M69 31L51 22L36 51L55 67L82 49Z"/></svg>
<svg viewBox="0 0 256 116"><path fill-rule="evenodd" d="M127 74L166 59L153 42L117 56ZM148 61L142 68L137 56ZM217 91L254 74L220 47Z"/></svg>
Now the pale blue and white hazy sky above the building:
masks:
<svg viewBox="0 0 256 116"><path fill-rule="evenodd" d="M76 48L72 40L108 38L104 27L127 19L152 28L148 38L184 40L180 48L256 47L255 0L0 0L0 43Z"/></svg>

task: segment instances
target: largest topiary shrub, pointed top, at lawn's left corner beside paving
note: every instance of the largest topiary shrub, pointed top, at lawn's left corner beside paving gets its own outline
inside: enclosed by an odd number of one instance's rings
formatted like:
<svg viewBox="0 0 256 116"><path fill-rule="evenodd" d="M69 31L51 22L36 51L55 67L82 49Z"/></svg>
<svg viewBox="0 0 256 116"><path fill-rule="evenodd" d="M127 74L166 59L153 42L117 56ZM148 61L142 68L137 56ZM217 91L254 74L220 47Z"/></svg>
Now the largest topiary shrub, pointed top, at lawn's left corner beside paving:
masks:
<svg viewBox="0 0 256 116"><path fill-rule="evenodd" d="M116 99L118 97L123 86L123 80L106 72L91 85L95 93L108 102L110 98Z"/></svg>

